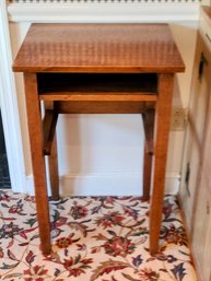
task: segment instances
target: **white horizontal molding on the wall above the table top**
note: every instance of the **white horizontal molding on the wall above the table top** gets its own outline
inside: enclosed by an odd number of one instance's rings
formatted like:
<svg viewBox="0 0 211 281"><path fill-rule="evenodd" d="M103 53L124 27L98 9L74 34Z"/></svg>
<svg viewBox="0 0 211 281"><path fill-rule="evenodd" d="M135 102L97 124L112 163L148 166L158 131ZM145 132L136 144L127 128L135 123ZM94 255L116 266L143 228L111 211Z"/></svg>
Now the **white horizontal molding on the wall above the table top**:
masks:
<svg viewBox="0 0 211 281"><path fill-rule="evenodd" d="M166 22L196 25L199 7L199 1L13 2L8 4L8 12L12 22Z"/></svg>

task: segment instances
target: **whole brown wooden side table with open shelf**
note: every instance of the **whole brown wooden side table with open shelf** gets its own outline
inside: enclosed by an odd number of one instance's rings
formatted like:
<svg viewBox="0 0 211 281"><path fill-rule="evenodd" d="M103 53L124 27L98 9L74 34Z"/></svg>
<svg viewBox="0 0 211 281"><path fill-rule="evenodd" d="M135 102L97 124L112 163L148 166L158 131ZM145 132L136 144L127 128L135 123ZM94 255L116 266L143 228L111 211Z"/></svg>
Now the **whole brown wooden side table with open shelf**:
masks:
<svg viewBox="0 0 211 281"><path fill-rule="evenodd" d="M32 24L13 70L24 73L43 253L50 251L46 154L49 155L52 196L59 196L55 138L58 114L139 113L143 114L145 130L146 198L153 171L150 250L155 254L162 219L174 73L185 70L168 26ZM45 103L44 120L40 101Z"/></svg>

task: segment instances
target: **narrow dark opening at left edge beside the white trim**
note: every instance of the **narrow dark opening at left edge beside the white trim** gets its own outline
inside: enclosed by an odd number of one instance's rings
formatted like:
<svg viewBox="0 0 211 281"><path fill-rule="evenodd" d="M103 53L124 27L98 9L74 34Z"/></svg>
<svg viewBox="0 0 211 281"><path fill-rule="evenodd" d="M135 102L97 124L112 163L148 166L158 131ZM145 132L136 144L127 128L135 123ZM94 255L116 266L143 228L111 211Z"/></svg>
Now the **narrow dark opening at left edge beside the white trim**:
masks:
<svg viewBox="0 0 211 281"><path fill-rule="evenodd" d="M3 126L0 112L0 189L11 188L8 157L5 152L5 142L3 136Z"/></svg>

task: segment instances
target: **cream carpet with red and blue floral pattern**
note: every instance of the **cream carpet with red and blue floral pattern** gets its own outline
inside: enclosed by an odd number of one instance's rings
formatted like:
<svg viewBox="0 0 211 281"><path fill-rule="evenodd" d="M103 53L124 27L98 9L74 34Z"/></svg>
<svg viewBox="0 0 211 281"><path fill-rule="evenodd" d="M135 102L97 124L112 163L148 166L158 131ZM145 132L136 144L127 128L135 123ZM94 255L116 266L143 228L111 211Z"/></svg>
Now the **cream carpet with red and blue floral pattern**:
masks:
<svg viewBox="0 0 211 281"><path fill-rule="evenodd" d="M50 201L51 254L42 255L34 197L0 190L0 280L196 281L176 197L163 207L160 253L149 253L140 197Z"/></svg>

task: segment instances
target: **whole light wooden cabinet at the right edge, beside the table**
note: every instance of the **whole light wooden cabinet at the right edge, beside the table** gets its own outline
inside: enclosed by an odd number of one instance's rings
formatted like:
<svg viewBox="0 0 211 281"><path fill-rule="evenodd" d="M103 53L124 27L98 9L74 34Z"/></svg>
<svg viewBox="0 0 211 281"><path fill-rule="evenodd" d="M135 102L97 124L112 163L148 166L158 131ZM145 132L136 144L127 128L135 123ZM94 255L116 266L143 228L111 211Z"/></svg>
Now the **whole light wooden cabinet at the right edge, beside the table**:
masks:
<svg viewBox="0 0 211 281"><path fill-rule="evenodd" d="M209 10L210 11L210 10ZM211 281L211 19L201 17L196 48L180 198L197 268Z"/></svg>

